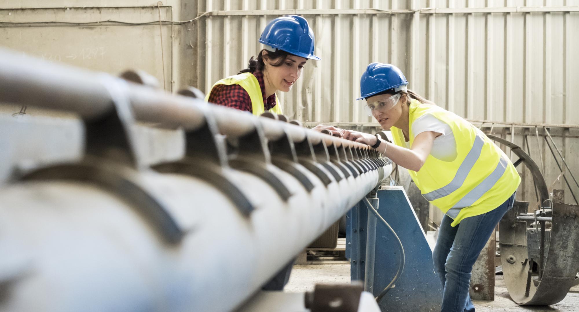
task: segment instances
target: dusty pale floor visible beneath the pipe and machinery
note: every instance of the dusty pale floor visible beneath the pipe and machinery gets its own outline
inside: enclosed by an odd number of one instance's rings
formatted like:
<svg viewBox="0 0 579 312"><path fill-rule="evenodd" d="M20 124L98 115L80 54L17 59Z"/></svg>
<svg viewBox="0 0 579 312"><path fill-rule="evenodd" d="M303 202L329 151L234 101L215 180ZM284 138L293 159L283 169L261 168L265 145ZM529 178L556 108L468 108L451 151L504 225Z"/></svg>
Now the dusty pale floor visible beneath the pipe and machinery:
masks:
<svg viewBox="0 0 579 312"><path fill-rule="evenodd" d="M503 276L496 276L494 301L475 301L477 312L565 311L579 312L579 286L571 288L565 299L545 307L518 306L508 295ZM321 265L295 265L284 291L303 292L313 290L317 283L350 283L350 263L328 262Z"/></svg>

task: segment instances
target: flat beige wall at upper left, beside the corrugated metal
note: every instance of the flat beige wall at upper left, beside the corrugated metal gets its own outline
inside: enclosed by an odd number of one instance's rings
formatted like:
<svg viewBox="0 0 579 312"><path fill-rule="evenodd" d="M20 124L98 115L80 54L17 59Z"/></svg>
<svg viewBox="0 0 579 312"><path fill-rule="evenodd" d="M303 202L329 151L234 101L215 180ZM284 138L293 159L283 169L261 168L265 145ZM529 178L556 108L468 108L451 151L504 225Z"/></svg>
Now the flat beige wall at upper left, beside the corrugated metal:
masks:
<svg viewBox="0 0 579 312"><path fill-rule="evenodd" d="M141 69L167 91L196 84L196 1L0 2L0 47L117 75ZM162 25L159 25L162 20Z"/></svg>

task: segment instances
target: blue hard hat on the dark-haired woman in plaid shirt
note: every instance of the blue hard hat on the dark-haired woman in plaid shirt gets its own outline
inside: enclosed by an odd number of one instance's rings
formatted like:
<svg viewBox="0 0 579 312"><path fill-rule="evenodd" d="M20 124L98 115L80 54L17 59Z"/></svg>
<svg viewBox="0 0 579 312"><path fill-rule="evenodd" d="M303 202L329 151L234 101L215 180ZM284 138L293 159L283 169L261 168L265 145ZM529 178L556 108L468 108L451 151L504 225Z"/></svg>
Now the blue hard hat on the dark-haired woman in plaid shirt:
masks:
<svg viewBox="0 0 579 312"><path fill-rule="evenodd" d="M314 32L307 20L298 15L278 17L263 29L259 42L297 55L319 61L314 55Z"/></svg>

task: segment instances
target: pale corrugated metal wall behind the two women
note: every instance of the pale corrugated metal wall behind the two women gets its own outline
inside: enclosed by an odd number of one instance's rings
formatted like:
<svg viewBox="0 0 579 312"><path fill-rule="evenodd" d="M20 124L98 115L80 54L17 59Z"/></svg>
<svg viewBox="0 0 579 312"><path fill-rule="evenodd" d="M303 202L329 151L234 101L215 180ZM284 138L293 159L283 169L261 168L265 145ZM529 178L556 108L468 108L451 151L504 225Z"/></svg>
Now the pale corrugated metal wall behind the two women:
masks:
<svg viewBox="0 0 579 312"><path fill-rule="evenodd" d="M268 21L300 14L314 29L322 61L308 61L291 92L278 94L292 118L367 128L373 120L354 99L365 66L376 61L397 65L410 88L470 120L579 124L578 7L579 0L206 0L198 6L206 16L198 24L196 80L207 91L234 75L261 49L257 40ZM510 125L486 124L486 131L491 126L525 150L528 142L548 187L569 191L543 128L537 142L534 128L525 129L533 134L525 140L519 128L511 139ZM577 130L551 129L576 176ZM522 167L518 197L533 205L530 173ZM569 192L567 199L573 202Z"/></svg>

